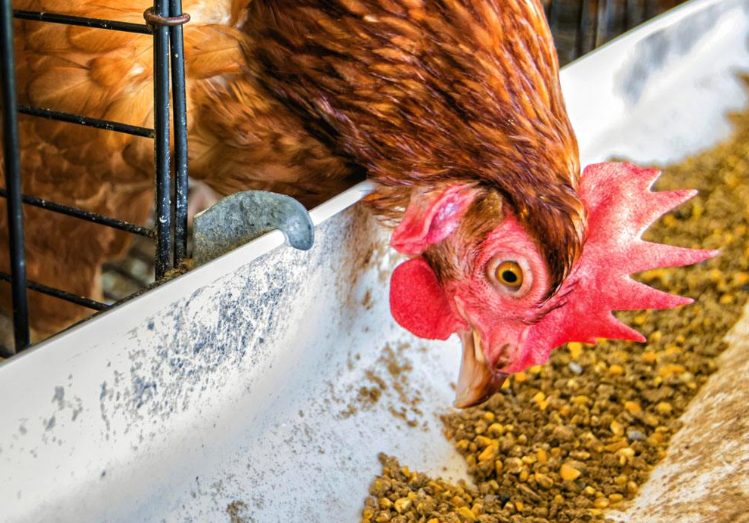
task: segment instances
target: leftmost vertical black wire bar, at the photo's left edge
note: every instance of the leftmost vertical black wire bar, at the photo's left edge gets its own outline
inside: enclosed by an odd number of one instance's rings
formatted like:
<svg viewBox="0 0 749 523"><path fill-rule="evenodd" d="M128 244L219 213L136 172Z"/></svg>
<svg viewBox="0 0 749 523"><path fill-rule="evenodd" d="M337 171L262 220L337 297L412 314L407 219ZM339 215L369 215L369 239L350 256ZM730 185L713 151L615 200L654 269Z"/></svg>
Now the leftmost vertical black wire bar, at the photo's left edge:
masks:
<svg viewBox="0 0 749 523"><path fill-rule="evenodd" d="M3 159L8 191L8 240L13 336L16 352L29 346L29 302L26 290L26 253L23 241L21 159L16 99L16 61L13 50L13 12L10 0L0 0L0 64L2 64Z"/></svg>

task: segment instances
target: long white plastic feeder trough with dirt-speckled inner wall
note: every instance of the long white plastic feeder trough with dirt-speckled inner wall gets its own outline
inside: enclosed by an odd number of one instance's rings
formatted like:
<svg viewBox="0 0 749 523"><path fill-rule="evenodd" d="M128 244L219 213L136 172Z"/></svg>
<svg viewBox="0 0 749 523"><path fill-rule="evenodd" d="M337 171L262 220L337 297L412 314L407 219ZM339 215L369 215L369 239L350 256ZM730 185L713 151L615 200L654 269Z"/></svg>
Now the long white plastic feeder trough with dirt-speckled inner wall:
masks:
<svg viewBox="0 0 749 523"><path fill-rule="evenodd" d="M726 113L747 101L736 73L749 71L748 43L749 0L695 0L567 67L583 164L665 164L726 138ZM465 477L438 419L459 343L425 343L391 319L398 260L355 205L369 188L312 211L311 251L267 234L0 365L0 521L353 522L378 452ZM721 482L749 499L749 435L725 441L710 403L749 411L742 350L724 355L734 363L674 441L700 442L694 459L708 452L716 467L690 476L668 458L617 518L747 521L736 502L734 519L690 512L716 503ZM411 367L400 392L385 360ZM740 386L707 395L729 372ZM367 402L373 376L387 388Z"/></svg>

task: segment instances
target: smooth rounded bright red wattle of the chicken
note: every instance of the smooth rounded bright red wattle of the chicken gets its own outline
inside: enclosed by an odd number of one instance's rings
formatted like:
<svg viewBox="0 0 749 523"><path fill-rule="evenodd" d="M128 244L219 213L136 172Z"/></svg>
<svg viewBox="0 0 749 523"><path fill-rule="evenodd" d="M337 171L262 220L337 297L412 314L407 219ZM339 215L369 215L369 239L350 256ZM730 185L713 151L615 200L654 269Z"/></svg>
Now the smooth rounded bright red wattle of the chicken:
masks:
<svg viewBox="0 0 749 523"><path fill-rule="evenodd" d="M390 278L390 312L419 338L446 340L461 325L437 275L424 258L401 263Z"/></svg>

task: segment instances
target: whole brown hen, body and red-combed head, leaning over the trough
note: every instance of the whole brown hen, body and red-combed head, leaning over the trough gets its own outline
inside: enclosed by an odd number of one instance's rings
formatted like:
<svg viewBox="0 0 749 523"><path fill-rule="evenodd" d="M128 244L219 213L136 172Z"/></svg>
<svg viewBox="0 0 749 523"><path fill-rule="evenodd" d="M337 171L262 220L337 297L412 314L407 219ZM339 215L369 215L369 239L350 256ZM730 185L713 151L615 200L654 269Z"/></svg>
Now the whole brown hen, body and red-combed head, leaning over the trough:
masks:
<svg viewBox="0 0 749 523"><path fill-rule="evenodd" d="M70 12L49 0L22 3ZM136 21L146 7L102 4L109 0L79 1L73 12ZM191 176L219 194L262 188L307 205L353 175L376 181L368 202L397 224L392 246L413 257L393 275L393 314L419 336L460 335L459 406L564 341L636 338L612 309L684 301L646 291L628 273L714 254L639 241L688 196L653 196L652 172L598 166L581 185L538 0L226 0L185 9ZM150 40L30 24L19 40L24 99L150 125ZM121 206L150 191L151 144L61 125L24 122L29 192L109 214L144 212ZM66 163L40 160L52 152ZM35 231L32 277L62 283L85 262L83 294L124 244L86 231L97 245L82 249L84 234ZM72 254L55 258L63 248Z"/></svg>

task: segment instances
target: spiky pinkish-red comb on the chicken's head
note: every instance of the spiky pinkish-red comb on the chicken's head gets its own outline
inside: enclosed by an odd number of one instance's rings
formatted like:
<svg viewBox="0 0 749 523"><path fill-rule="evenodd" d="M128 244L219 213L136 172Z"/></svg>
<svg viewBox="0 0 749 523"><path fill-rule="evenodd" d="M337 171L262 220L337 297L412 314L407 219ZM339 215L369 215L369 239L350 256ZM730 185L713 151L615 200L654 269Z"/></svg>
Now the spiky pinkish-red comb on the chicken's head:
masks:
<svg viewBox="0 0 749 523"><path fill-rule="evenodd" d="M503 369L518 372L545 363L552 349L569 341L594 344L596 338L645 342L612 311L667 309L693 300L661 292L630 277L659 267L705 261L718 251L651 243L641 238L659 217L697 191L652 192L656 169L630 163L599 163L585 169L579 194L588 212L585 246L570 276L535 324L517 361Z"/></svg>

